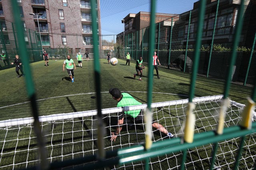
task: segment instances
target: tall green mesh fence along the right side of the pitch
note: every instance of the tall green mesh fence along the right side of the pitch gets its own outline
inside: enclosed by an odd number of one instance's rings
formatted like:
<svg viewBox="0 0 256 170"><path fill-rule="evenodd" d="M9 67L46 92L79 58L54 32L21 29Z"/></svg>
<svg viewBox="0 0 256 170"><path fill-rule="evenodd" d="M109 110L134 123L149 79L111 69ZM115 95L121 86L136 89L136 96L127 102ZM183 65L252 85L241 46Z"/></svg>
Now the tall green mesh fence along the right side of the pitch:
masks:
<svg viewBox="0 0 256 170"><path fill-rule="evenodd" d="M240 2L215 1L206 6L198 73L213 78L226 77ZM232 81L253 84L256 75L255 21L252 1L246 0L244 23L236 49ZM196 4L195 4L196 5ZM163 66L191 72L194 56L198 9L156 23L155 51ZM254 24L254 26L253 26ZM125 35L125 53L148 62L149 27ZM122 43L120 43L122 45Z"/></svg>

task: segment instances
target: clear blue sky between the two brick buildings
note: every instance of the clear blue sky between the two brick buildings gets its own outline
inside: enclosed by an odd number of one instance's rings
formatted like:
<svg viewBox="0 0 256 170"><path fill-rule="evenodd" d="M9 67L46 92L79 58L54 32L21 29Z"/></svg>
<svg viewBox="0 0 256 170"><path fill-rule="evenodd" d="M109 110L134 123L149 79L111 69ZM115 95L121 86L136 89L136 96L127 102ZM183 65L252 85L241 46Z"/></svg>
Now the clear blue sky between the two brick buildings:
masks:
<svg viewBox="0 0 256 170"><path fill-rule="evenodd" d="M156 0L156 13L182 14L193 9L198 0ZM128 14L150 12L151 0L100 0L101 34L117 35L124 29Z"/></svg>

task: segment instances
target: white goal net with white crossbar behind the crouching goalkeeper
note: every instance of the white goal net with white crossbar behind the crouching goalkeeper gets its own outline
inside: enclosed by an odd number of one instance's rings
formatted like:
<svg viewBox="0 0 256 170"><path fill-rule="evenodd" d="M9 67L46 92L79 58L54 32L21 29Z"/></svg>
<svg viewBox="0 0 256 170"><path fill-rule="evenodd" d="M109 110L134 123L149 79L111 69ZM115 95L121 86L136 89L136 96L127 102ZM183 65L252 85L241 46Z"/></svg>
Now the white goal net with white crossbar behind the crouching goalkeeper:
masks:
<svg viewBox="0 0 256 170"><path fill-rule="evenodd" d="M217 125L217 112L220 108L220 96L194 98L196 115L195 133L215 130ZM225 127L239 125L240 113L244 107L230 101L226 112ZM152 116L154 121L163 125L174 137L183 135L182 125L185 120L185 110L188 100L175 100L170 102L153 103ZM137 106L138 107L138 106ZM140 109L146 108L143 104ZM132 110L134 106L126 109ZM138 108L137 108L138 109ZM116 141L110 141L111 132L115 131L118 117L116 113L122 111L121 107L102 109L104 115L106 135L104 136L105 150L116 150L124 147L145 143L145 129L143 124L133 124L126 121ZM96 154L97 147L97 110L80 111L75 113L62 113L41 116L41 130L45 138L45 149L49 163ZM254 118L255 120L255 113ZM0 167L4 169L20 169L36 166L38 146L36 134L33 130L33 117L10 119L0 121ZM172 140L159 130L153 129L153 142ZM215 168L232 169L239 148L240 139L234 138L219 141L216 154ZM252 169L256 160L256 134L246 136L244 151L240 158L241 169ZM208 169L213 144L203 145L188 150L187 169ZM150 158L152 169L177 169L180 167L182 152L168 153L164 156ZM123 165L114 165L110 169L142 169L144 162L132 162ZM109 167L108 167L109 168Z"/></svg>

